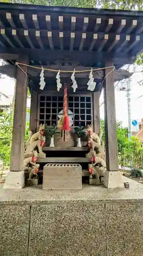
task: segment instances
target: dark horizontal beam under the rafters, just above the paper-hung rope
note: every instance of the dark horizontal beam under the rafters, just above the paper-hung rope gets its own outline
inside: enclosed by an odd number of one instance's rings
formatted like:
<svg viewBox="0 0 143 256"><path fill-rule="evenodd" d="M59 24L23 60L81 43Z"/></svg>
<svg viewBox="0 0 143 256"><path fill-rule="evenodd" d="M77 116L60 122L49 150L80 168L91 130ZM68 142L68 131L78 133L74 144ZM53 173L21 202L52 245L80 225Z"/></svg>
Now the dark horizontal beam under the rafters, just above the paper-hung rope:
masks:
<svg viewBox="0 0 143 256"><path fill-rule="evenodd" d="M141 40L141 38L140 38ZM131 64L135 61L136 55L130 56L129 53L103 53L101 52L93 52L93 51L67 51L67 50L42 50L42 49L23 49L23 48L6 48L6 47L1 47L0 48L0 55L3 55L3 58L6 59L4 56L8 56L8 54L13 54L15 56L16 54L25 54L29 57L30 60L34 61L47 61L47 56L48 56L48 61L50 63L53 63L57 59L65 59L68 58L69 61L74 61L74 62L79 62L79 65L82 66L87 66L87 67L92 67L93 63L96 62L102 62L102 65L104 65L103 61L105 58L112 57L114 65L118 66L120 68L120 65L123 66L124 63ZM12 56L12 55L11 55Z"/></svg>

